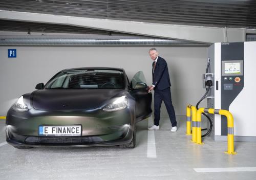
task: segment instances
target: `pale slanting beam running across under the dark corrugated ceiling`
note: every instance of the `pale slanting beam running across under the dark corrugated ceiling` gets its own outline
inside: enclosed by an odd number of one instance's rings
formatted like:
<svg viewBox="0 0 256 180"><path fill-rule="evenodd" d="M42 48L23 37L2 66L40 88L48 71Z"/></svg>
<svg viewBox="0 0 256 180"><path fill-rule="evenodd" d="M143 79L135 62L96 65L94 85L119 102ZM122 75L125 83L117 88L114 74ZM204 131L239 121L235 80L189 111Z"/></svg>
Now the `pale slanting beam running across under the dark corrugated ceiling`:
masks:
<svg viewBox="0 0 256 180"><path fill-rule="evenodd" d="M245 41L246 34L245 28L218 28L155 24L138 21L99 19L5 10L0 10L0 19L70 25L205 43Z"/></svg>

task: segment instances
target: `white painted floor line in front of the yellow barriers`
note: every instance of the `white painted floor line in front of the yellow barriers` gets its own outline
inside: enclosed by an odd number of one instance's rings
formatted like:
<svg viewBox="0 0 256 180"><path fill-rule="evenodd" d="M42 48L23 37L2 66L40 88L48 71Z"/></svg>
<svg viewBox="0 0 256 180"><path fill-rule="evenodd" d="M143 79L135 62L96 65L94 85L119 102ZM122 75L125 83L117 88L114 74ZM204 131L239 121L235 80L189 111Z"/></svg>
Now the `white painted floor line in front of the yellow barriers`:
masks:
<svg viewBox="0 0 256 180"><path fill-rule="evenodd" d="M256 171L256 167L239 167L239 168L194 168L196 172L248 172Z"/></svg>

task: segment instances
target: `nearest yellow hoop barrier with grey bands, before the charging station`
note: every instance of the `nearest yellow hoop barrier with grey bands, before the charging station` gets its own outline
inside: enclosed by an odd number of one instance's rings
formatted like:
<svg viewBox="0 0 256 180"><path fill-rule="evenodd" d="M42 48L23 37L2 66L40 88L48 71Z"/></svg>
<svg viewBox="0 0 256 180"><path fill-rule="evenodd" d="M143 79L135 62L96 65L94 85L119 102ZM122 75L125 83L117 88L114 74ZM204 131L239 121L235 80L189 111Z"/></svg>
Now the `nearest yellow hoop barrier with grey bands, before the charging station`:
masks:
<svg viewBox="0 0 256 180"><path fill-rule="evenodd" d="M197 111L197 121L200 122L201 126L201 113L209 113L209 114L219 114L226 116L227 118L227 151L225 153L228 154L237 154L237 152L234 151L234 120L232 114L228 110L223 110L223 109L208 109L201 107ZM200 129L200 136L199 136L199 129ZM201 138L201 127L197 129L197 143L200 144L202 143L202 138Z"/></svg>

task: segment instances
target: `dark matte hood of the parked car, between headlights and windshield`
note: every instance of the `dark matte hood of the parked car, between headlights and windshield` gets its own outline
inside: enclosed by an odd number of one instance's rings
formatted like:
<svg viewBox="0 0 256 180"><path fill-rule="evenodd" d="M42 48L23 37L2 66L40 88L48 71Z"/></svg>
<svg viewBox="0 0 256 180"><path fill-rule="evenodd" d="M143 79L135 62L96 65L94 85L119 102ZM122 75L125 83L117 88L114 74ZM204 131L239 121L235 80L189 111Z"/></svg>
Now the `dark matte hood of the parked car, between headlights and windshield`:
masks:
<svg viewBox="0 0 256 180"><path fill-rule="evenodd" d="M33 94L38 110L90 110L102 106L124 89L42 89Z"/></svg>

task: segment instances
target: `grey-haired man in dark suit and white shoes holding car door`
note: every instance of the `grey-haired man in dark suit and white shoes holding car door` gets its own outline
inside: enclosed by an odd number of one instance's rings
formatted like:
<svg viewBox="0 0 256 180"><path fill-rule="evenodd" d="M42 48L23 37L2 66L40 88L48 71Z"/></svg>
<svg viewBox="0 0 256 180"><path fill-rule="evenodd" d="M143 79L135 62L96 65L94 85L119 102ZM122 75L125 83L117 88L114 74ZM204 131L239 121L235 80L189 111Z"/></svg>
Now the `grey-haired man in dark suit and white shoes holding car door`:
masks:
<svg viewBox="0 0 256 180"><path fill-rule="evenodd" d="M154 125L148 130L158 130L159 129L159 120L160 120L160 108L162 101L165 104L167 109L170 122L172 123L171 132L177 131L177 122L175 118L174 106L172 103L172 97L170 95L170 78L168 72L168 66L166 61L158 56L158 52L155 48L150 49L148 51L151 59L154 61L152 64L152 75L153 75L153 83L148 88L148 93L150 93L153 89L155 91L154 95Z"/></svg>

